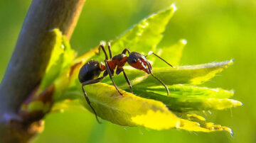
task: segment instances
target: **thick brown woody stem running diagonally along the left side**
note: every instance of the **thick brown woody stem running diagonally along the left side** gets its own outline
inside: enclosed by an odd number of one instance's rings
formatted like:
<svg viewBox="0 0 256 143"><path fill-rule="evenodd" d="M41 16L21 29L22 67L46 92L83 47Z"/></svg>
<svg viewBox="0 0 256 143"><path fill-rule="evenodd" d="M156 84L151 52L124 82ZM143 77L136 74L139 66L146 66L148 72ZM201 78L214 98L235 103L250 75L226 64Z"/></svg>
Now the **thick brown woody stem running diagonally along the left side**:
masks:
<svg viewBox="0 0 256 143"><path fill-rule="evenodd" d="M0 85L0 142L28 142L18 110L45 74L53 44L49 31L59 28L70 40L85 0L33 0Z"/></svg>

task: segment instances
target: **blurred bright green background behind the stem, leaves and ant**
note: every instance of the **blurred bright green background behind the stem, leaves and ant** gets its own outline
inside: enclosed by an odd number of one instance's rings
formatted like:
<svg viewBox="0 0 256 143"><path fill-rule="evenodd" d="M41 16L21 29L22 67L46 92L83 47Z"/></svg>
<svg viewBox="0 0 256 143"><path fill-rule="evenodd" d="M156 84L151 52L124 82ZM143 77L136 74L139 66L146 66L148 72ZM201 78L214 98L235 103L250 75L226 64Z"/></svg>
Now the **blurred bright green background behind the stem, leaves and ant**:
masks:
<svg viewBox="0 0 256 143"><path fill-rule="evenodd" d="M79 55L112 40L142 18L172 2L178 11L164 33L160 45L188 40L181 65L235 59L203 86L234 89L235 98L244 105L231 110L205 114L208 121L233 129L226 132L187 132L183 130L146 130L122 127L104 121L84 108L53 113L46 117L46 127L33 142L256 142L256 1L255 0L87 0L71 39ZM1 0L0 3L0 79L14 50L18 33L31 0ZM171 55L170 55L171 56Z"/></svg>

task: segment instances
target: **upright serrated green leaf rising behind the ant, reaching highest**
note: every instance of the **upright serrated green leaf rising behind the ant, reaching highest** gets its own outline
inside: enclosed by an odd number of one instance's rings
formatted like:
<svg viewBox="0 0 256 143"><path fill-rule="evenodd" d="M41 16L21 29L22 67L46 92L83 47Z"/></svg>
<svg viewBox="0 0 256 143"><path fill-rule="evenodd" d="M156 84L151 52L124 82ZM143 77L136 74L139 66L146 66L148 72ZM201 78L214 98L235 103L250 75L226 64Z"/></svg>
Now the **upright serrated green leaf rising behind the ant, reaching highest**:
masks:
<svg viewBox="0 0 256 143"><path fill-rule="evenodd" d="M134 25L132 29L112 42L113 53L119 54L126 47L136 52L155 51L156 45L163 38L161 33L164 32L174 11L176 11L176 6L172 4L166 10L155 13Z"/></svg>

